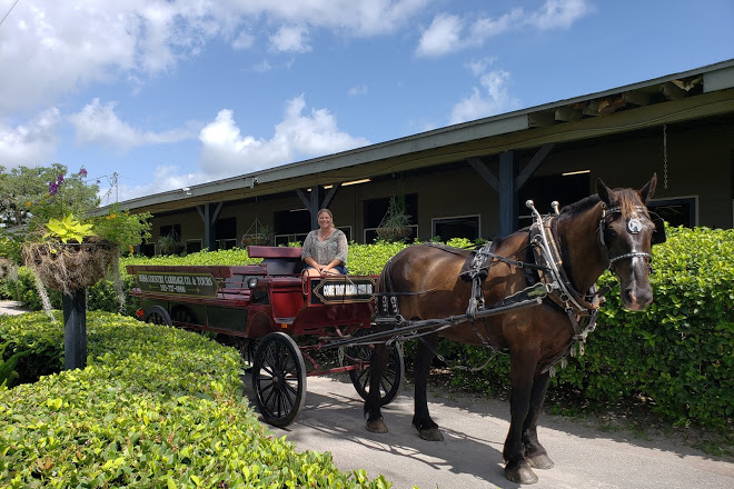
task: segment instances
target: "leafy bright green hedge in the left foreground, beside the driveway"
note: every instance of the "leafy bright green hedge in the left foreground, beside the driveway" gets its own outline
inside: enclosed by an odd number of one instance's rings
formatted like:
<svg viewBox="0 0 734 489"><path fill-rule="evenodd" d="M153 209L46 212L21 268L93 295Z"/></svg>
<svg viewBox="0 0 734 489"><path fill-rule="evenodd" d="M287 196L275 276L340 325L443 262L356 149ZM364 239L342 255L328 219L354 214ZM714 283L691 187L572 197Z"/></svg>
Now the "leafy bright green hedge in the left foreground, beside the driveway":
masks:
<svg viewBox="0 0 734 489"><path fill-rule="evenodd" d="M2 317L0 336L18 351L47 343L58 361L56 317ZM390 486L272 437L241 397L234 349L107 312L89 312L87 328L85 370L0 388L1 487Z"/></svg>

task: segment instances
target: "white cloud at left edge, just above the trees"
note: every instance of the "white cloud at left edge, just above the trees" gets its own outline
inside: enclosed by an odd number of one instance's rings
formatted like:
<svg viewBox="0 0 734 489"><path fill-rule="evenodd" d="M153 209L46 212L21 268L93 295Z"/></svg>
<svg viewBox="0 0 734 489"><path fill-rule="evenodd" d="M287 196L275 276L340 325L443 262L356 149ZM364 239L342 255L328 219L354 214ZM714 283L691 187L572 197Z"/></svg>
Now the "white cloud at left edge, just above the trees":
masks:
<svg viewBox="0 0 734 489"><path fill-rule="evenodd" d="M59 109L52 107L24 124L10 127L0 122L0 166L47 164L59 143Z"/></svg>

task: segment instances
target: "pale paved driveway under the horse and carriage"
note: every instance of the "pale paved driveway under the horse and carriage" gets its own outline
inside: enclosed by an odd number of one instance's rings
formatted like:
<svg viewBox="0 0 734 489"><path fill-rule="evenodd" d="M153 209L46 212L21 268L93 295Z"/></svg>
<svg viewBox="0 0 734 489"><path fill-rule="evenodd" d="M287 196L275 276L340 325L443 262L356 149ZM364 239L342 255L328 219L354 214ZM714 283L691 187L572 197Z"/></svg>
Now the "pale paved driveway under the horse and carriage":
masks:
<svg viewBox="0 0 734 489"><path fill-rule="evenodd" d="M249 376L246 379L249 383ZM251 399L251 391L247 392ZM311 377L298 420L272 430L299 450L330 451L343 470L381 473L396 489L520 487L503 473L507 402L429 395L429 408L444 430L442 442L421 440L410 426L410 390L383 411L390 432L370 433L365 430L361 399L346 375ZM536 470L540 480L534 489L734 488L734 463L667 439L645 441L627 432L602 432L549 415L540 418L539 437L556 466Z"/></svg>

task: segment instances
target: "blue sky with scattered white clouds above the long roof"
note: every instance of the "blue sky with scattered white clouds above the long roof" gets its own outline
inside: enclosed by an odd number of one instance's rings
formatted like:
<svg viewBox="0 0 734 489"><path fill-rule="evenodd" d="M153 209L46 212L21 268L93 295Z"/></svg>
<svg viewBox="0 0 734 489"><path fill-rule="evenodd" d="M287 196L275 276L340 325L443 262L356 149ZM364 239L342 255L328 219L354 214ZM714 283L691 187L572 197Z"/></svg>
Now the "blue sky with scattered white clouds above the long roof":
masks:
<svg viewBox="0 0 734 489"><path fill-rule="evenodd" d="M731 0L0 0L3 17L0 166L83 166L102 203L734 58Z"/></svg>

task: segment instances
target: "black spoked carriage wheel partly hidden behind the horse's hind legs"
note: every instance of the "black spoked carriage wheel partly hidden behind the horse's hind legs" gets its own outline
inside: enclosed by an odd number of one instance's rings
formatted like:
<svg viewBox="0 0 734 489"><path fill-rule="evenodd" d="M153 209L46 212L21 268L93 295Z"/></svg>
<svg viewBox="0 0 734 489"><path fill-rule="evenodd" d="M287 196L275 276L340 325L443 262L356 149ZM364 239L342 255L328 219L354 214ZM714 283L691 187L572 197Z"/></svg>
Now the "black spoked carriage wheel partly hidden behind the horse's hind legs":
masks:
<svg viewBox="0 0 734 489"><path fill-rule="evenodd" d="M374 349L374 345L349 347L347 355L363 361L369 361ZM367 395L369 393L369 368L365 370L349 370L351 383L355 386L355 389L357 389L357 393L359 393L365 400L367 400ZM379 382L380 406L387 406L393 402L403 388L404 378L405 358L403 355L403 348L395 343L387 350L387 365L385 366L385 371L383 372L383 378Z"/></svg>

